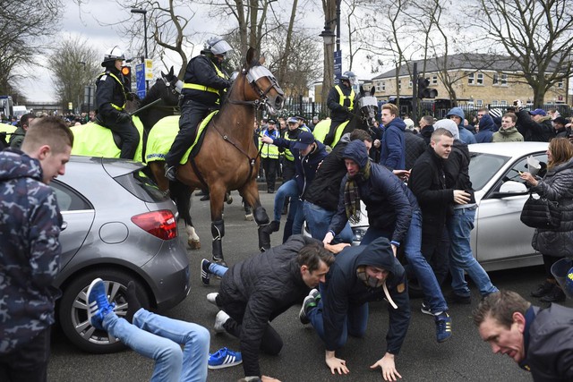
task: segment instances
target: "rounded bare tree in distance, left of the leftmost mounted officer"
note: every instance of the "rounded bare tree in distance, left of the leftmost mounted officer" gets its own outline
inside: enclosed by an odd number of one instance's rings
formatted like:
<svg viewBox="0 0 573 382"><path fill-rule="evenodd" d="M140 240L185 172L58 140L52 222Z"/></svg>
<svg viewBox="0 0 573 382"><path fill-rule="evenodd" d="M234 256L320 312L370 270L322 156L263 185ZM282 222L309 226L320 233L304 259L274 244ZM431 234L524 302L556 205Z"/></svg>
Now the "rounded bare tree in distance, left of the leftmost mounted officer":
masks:
<svg viewBox="0 0 573 382"><path fill-rule="evenodd" d="M102 58L87 39L64 38L54 47L47 62L53 73L56 97L64 110L70 102L75 106L83 102L84 87L94 85L102 72Z"/></svg>

